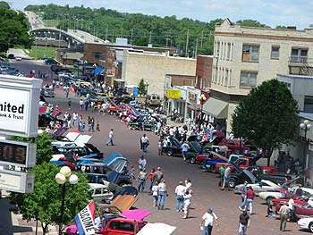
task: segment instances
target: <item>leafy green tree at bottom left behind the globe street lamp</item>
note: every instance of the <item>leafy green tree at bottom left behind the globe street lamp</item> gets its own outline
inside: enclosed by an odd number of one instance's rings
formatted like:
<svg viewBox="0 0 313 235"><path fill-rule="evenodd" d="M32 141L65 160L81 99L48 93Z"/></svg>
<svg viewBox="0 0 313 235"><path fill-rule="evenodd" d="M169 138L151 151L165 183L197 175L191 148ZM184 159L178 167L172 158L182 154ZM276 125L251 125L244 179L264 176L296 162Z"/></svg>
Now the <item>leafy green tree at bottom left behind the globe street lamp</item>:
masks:
<svg viewBox="0 0 313 235"><path fill-rule="evenodd" d="M55 174L60 168L55 164L40 164L32 169L35 177L35 186L30 194L11 193L11 203L19 206L24 220L38 220L42 224L44 234L49 225L59 222L61 214L62 189L55 182ZM65 207L63 210L63 223L71 222L90 200L87 177L82 172L75 172L79 182L66 185ZM66 183L68 184L68 183Z"/></svg>

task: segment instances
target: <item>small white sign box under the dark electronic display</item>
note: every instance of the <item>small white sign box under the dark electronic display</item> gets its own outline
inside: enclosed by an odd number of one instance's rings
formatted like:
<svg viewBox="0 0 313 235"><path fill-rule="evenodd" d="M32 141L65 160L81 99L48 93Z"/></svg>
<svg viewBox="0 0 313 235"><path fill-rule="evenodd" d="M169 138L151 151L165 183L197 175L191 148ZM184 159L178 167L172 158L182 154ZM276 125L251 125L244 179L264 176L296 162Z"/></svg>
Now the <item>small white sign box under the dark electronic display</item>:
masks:
<svg viewBox="0 0 313 235"><path fill-rule="evenodd" d="M29 193L34 189L34 178L30 172L0 170L0 189Z"/></svg>

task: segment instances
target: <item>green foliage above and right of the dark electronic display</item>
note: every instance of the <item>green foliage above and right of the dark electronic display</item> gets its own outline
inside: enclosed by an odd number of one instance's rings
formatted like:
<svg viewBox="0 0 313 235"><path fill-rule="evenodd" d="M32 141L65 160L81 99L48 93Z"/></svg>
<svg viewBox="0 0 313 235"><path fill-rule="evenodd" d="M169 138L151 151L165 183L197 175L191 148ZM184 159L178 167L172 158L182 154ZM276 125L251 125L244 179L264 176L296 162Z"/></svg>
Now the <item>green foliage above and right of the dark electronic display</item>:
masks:
<svg viewBox="0 0 313 235"><path fill-rule="evenodd" d="M47 133L44 132L41 135L38 135L36 138L22 138L22 137L12 137L12 140L36 143L37 144L37 154L36 154L36 163L48 163L53 155L53 150L51 146L52 138Z"/></svg>

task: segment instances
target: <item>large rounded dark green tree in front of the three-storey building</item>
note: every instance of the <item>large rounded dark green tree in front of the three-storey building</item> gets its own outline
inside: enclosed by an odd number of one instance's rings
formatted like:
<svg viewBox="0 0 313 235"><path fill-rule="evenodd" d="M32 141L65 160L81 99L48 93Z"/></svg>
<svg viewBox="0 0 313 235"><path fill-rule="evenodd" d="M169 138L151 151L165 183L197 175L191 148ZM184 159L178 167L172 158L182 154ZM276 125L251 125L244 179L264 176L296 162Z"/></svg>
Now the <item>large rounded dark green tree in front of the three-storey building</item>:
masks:
<svg viewBox="0 0 313 235"><path fill-rule="evenodd" d="M273 150L296 138L297 113L297 102L283 82L268 80L253 88L236 107L233 132L266 151L269 165Z"/></svg>

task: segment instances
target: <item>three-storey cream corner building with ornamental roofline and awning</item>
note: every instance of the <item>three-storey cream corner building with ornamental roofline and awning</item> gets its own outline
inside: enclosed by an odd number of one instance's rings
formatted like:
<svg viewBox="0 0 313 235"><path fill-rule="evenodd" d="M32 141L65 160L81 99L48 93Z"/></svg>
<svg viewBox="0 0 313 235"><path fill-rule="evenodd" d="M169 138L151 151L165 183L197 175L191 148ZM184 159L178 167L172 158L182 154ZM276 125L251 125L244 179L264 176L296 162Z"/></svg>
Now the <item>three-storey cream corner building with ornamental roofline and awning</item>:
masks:
<svg viewBox="0 0 313 235"><path fill-rule="evenodd" d="M204 112L224 121L229 133L233 111L251 88L275 79L277 73L310 74L312 57L313 29L259 29L224 20L216 25L210 98Z"/></svg>

